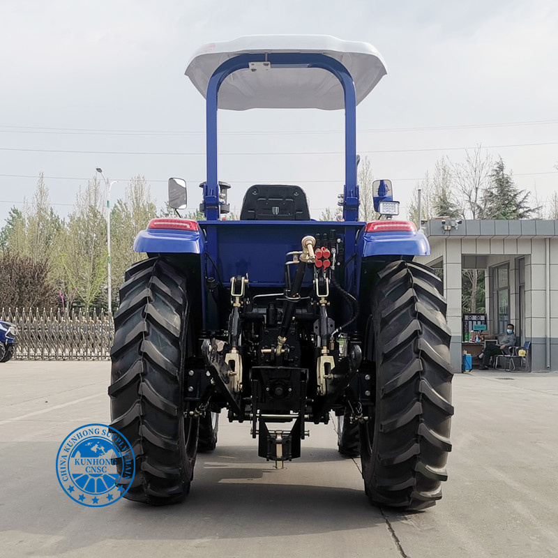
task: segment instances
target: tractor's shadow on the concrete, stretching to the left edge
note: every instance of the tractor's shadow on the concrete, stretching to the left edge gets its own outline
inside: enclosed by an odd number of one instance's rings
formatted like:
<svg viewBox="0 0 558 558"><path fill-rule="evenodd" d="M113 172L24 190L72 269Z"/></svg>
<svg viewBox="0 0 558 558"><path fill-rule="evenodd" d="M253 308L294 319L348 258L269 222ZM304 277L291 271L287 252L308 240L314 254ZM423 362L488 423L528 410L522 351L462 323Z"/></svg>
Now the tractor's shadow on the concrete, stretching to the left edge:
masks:
<svg viewBox="0 0 558 558"><path fill-rule="evenodd" d="M57 538L47 555L111 540L262 538L385 525L364 495L354 462L335 448L303 448L303 458L275 469L257 457L255 446L218 446L198 455L190 494L180 504L155 507L121 500L93 509L71 502L59 487L52 470L57 444L9 445L11 471L0 533ZM39 460L33 459L38 446Z"/></svg>

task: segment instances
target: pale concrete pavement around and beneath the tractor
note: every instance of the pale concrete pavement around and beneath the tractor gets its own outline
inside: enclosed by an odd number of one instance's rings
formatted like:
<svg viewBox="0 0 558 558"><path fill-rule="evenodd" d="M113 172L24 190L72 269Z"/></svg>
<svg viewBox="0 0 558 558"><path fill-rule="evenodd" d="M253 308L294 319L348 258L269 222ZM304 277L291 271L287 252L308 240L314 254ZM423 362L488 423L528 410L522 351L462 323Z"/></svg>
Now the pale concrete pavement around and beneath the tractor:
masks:
<svg viewBox="0 0 558 558"><path fill-rule="evenodd" d="M0 556L558 556L558 374L455 376L449 480L423 513L370 506L332 424L311 426L303 458L276 470L225 414L183 504L75 504L56 452L109 421L109 375L107 362L0 365Z"/></svg>

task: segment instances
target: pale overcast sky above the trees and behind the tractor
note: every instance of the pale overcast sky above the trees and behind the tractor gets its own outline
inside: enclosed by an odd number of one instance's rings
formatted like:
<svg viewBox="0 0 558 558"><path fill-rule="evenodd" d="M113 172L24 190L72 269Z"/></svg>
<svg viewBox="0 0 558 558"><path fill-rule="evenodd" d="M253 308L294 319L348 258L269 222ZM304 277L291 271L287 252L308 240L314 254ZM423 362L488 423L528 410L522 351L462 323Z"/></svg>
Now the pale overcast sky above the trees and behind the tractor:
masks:
<svg viewBox="0 0 558 558"><path fill-rule="evenodd" d="M555 0L0 0L0 224L39 172L66 215L99 166L119 180L113 199L143 174L162 205L167 178L181 176L197 205L203 155L33 150L203 153L204 99L183 75L190 54L266 33L363 40L382 53L388 75L359 105L358 151L376 178L392 179L402 206L439 158L460 161L455 148L476 144L501 155L521 188L548 197L558 186L557 29ZM274 182L303 186L316 217L335 206L342 111L220 111L219 125L232 205L250 183ZM340 153L255 155L269 151Z"/></svg>

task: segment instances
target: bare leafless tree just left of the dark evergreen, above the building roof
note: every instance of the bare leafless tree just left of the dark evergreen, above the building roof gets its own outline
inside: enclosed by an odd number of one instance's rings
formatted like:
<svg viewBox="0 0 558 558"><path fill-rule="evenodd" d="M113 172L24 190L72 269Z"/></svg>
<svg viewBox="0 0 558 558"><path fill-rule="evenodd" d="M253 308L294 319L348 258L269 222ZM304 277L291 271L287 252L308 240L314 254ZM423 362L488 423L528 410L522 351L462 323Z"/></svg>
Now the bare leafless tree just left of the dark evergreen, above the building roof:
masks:
<svg viewBox="0 0 558 558"><path fill-rule="evenodd" d="M490 181L492 158L478 145L474 151L465 151L465 163L451 164L455 186L464 202L463 218L482 219L482 194Z"/></svg>

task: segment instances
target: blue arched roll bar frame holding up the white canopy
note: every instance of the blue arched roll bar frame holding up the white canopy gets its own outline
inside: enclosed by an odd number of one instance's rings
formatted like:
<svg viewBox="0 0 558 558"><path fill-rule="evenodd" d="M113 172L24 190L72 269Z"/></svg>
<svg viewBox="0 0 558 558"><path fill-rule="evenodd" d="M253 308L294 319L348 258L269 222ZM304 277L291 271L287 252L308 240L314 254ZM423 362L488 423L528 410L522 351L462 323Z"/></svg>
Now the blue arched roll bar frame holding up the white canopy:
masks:
<svg viewBox="0 0 558 558"><path fill-rule="evenodd" d="M325 54L285 52L270 54L239 54L223 62L213 72L206 93L207 180L204 186L204 212L207 220L218 220L219 185L217 178L217 109L218 93L230 74L249 68L250 62L269 61L271 68L322 68L341 82L345 100L345 189L343 218L359 218L359 186L356 184L356 91L349 71L339 61Z"/></svg>

